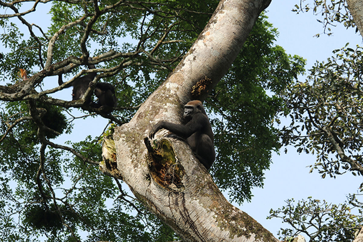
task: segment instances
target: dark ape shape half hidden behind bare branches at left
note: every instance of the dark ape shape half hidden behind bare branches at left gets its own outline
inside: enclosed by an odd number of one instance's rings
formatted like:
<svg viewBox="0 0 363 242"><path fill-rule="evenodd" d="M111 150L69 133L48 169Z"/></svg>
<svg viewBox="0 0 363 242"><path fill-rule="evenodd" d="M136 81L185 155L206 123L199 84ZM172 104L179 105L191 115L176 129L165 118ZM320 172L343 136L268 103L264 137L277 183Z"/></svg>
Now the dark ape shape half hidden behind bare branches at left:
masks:
<svg viewBox="0 0 363 242"><path fill-rule="evenodd" d="M89 61L92 61L92 58L88 58ZM88 65L89 69L95 69L95 65ZM87 88L93 87L94 83L92 83L94 77L97 73L89 73L82 77L78 77L73 81L71 84L73 86L72 92L72 100L77 100L82 98L85 94ZM62 74L58 75L58 84L62 85ZM71 85L67 86L70 87ZM87 101L86 103L89 104L93 108L102 108L102 112L110 113L114 107L117 105L117 98L115 96L115 87L110 83L105 82L97 82L95 84L94 94L98 98L98 102L92 102L91 100Z"/></svg>

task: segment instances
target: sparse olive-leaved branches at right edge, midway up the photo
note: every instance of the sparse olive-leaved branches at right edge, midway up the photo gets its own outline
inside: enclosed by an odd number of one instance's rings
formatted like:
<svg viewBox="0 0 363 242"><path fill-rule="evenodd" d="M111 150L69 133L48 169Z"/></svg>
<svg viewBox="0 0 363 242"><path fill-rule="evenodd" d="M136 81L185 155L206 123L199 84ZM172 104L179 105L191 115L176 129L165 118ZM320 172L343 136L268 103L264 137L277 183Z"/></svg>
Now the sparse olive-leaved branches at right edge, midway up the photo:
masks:
<svg viewBox="0 0 363 242"><path fill-rule="evenodd" d="M362 48L345 46L334 53L284 94L292 122L282 129L282 141L294 144L300 153L316 153L313 168L323 178L363 171Z"/></svg>

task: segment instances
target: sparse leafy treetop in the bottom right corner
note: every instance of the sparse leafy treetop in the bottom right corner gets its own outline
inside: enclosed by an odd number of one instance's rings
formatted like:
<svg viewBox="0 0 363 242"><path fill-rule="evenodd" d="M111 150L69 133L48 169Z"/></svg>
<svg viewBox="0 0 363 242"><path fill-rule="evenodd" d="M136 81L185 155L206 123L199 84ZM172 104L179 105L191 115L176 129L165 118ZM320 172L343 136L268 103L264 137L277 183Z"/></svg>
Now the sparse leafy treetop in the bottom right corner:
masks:
<svg viewBox="0 0 363 242"><path fill-rule="evenodd" d="M339 241L351 242L363 222L362 216L351 213L347 204L329 204L325 200L298 201L289 199L286 206L277 210L270 210L271 218L281 218L292 229L281 229L278 234L280 239L294 238L300 233L310 237L309 242Z"/></svg>

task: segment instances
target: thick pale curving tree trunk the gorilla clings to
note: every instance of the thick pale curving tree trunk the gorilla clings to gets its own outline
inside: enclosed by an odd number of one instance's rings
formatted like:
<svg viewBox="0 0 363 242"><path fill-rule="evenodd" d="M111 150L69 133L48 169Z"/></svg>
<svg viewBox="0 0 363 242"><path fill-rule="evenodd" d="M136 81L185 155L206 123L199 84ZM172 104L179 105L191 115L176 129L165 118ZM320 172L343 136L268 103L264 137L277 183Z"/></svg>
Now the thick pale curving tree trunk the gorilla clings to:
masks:
<svg viewBox="0 0 363 242"><path fill-rule="evenodd" d="M221 0L178 67L129 123L115 129L117 163L106 160L100 165L103 172L122 178L138 200L185 241L278 241L224 198L183 141L162 138L167 131L159 131L158 151L153 156L144 143L158 120L179 123L183 105L208 94L227 72L269 3Z"/></svg>

